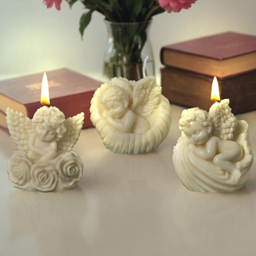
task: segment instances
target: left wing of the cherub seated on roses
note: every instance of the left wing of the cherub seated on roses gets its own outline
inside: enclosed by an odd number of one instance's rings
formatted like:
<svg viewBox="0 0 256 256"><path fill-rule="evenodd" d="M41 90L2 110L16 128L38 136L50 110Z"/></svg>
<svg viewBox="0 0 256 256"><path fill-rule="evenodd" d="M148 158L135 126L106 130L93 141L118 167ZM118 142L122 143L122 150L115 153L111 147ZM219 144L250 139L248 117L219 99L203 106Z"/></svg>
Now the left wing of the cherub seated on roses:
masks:
<svg viewBox="0 0 256 256"><path fill-rule="evenodd" d="M6 109L6 120L11 139L19 150L29 151L28 140L30 134L34 133L32 121L24 114L10 109Z"/></svg>

